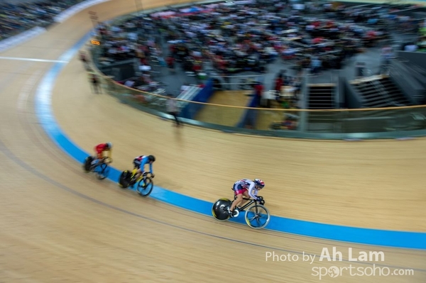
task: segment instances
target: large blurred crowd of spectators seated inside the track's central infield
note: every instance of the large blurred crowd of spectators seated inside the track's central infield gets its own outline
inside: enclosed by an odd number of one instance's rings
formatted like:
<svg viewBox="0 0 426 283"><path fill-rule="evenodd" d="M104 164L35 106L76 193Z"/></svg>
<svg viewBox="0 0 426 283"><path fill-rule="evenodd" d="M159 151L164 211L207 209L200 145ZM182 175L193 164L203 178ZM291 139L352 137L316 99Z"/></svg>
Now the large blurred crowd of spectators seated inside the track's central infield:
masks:
<svg viewBox="0 0 426 283"><path fill-rule="evenodd" d="M138 57L141 65L151 64L153 57L170 70L178 62L185 72L196 73L209 61L223 74L268 72L268 64L280 58L295 69L316 73L341 68L347 57L386 38L381 17L386 12L328 4L311 5L301 12L282 1L170 9L105 28L102 57L114 61Z"/></svg>

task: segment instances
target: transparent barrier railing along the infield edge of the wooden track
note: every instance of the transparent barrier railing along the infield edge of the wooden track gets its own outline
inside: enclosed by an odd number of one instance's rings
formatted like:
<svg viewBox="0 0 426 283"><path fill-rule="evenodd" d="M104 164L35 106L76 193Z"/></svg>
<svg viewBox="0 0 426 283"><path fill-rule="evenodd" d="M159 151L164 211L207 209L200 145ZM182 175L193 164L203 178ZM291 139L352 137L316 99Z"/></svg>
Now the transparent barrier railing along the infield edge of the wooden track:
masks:
<svg viewBox="0 0 426 283"><path fill-rule="evenodd" d="M165 96L138 91L115 82L113 79L98 73L102 87L107 93L122 103L129 104L143 111L165 113ZM180 101L185 101L178 99ZM208 104L185 101L186 104L202 104L202 111L195 116L196 124L205 123L207 127L228 127L232 131L245 131L244 126L236 127L241 116L248 110L256 111L254 130L258 135L297 135L304 133L343 134L376 136L376 133L392 133L392 135L413 135L408 131L424 131L426 135L426 106L388 107L379 109L266 109L249 108L219 104ZM206 115L205 113L210 113ZM320 115L318 115L320 114ZM327 116L324 121L323 116ZM302 119L301 117L307 117ZM318 121L315 121L318 117ZM191 123L191 121L187 121ZM307 123L307 125L302 125ZM415 133L420 135L420 133ZM380 135L382 136L382 135Z"/></svg>

